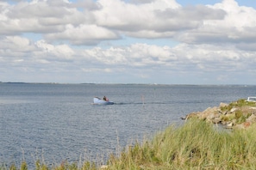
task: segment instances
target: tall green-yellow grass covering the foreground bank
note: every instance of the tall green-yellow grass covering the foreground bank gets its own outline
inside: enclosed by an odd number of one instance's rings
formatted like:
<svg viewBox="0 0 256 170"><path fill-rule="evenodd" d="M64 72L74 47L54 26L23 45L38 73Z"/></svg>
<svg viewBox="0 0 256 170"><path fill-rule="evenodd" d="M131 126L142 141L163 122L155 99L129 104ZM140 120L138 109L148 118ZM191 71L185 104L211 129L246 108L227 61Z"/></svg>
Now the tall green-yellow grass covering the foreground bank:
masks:
<svg viewBox="0 0 256 170"><path fill-rule="evenodd" d="M184 125L169 126L159 131L152 139L127 146L118 155L110 155L106 167L84 161L63 162L47 166L35 162L37 170L64 169L256 169L255 125L246 130L220 131L214 124L190 119ZM20 168L15 165L0 169L28 169L23 161Z"/></svg>

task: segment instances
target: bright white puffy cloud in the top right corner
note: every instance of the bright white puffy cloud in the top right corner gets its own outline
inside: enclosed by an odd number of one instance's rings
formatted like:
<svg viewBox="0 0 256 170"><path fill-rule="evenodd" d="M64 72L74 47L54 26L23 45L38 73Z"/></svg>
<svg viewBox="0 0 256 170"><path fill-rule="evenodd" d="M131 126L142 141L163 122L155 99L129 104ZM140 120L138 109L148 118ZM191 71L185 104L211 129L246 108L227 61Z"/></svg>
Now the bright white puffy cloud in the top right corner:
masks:
<svg viewBox="0 0 256 170"><path fill-rule="evenodd" d="M178 35L178 40L185 43L247 43L253 42L256 33L256 10L250 7L240 7L234 0L224 0L222 3L209 5L210 9L222 9L226 12L222 20L202 20L197 29L188 30Z"/></svg>

